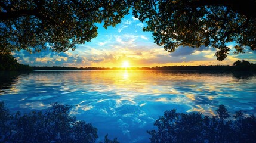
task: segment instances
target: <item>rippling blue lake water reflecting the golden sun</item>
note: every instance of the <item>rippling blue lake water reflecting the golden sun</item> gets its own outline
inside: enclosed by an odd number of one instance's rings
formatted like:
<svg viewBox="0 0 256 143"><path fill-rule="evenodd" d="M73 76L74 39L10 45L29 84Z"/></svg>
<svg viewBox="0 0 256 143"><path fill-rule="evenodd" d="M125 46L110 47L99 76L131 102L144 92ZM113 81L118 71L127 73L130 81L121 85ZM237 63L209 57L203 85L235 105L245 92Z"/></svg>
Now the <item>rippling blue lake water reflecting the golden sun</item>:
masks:
<svg viewBox="0 0 256 143"><path fill-rule="evenodd" d="M53 102L75 105L71 114L121 142L149 142L146 130L165 110L214 115L256 113L256 76L193 71L34 71L0 73L0 101L10 111L41 110Z"/></svg>

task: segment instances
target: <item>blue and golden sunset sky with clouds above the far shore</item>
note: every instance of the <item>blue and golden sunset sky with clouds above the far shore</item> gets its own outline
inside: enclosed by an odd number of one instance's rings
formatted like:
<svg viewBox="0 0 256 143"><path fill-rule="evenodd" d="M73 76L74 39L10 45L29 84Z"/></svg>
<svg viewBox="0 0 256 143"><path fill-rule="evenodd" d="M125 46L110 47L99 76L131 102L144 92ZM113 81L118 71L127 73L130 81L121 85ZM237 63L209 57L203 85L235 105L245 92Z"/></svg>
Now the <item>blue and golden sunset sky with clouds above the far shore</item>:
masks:
<svg viewBox="0 0 256 143"><path fill-rule="evenodd" d="M13 55L19 63L29 66L66 66L66 67L155 67L155 66L198 66L232 65L236 60L256 63L256 52L246 50L245 54L235 55L230 51L226 60L218 61L215 48L183 47L168 53L164 47L156 45L152 32L143 32L145 23L133 15L126 15L116 27L104 29L97 24L98 36L84 45L76 45L75 51L29 54L27 51ZM229 43L232 48L234 43Z"/></svg>

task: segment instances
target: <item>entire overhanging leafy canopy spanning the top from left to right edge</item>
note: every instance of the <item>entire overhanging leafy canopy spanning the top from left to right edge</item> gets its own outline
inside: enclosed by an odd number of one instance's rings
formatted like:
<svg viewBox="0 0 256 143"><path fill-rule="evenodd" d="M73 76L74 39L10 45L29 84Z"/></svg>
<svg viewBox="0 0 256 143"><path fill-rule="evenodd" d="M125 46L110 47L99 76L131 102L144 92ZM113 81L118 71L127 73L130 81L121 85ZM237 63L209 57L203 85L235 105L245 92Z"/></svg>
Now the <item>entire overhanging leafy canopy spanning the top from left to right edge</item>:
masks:
<svg viewBox="0 0 256 143"><path fill-rule="evenodd" d="M130 8L168 52L205 45L224 60L229 42L236 43L235 54L256 49L254 0L3 0L0 8L0 52L75 49L97 36L95 23L115 26Z"/></svg>

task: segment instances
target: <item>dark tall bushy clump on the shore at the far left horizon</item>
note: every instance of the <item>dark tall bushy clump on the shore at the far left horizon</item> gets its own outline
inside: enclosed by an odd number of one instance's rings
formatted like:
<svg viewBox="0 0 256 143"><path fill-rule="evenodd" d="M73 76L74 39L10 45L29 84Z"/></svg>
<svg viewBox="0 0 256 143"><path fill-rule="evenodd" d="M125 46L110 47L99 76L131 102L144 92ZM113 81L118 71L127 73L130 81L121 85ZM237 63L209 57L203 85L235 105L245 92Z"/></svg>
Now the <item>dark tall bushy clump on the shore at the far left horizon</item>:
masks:
<svg viewBox="0 0 256 143"><path fill-rule="evenodd" d="M13 55L8 53L0 52L0 71L1 70L32 70L28 65L20 64L13 57Z"/></svg>

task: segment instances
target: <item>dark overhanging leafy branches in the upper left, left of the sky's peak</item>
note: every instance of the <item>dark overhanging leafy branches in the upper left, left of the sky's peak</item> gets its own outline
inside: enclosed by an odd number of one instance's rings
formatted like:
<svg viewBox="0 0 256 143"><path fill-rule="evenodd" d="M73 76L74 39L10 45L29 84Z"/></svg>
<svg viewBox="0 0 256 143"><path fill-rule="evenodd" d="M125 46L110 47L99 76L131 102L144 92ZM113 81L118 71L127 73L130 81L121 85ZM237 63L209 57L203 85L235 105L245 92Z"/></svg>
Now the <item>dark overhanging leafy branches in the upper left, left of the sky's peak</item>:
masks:
<svg viewBox="0 0 256 143"><path fill-rule="evenodd" d="M95 23L115 26L129 11L118 0L3 0L0 2L0 52L61 52L97 36Z"/></svg>

